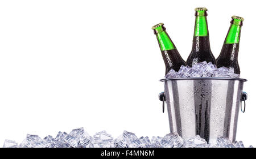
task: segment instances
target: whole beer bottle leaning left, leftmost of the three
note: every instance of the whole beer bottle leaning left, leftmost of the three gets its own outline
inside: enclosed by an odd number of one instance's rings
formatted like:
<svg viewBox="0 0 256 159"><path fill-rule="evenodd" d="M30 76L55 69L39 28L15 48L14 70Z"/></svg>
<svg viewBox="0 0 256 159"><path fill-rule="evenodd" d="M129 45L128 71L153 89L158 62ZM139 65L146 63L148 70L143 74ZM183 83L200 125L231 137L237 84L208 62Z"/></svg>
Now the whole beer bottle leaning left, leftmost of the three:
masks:
<svg viewBox="0 0 256 159"><path fill-rule="evenodd" d="M156 24L152 27L152 29L154 30L154 34L158 40L164 64L166 65L167 74L171 69L179 71L181 65L185 66L185 61L181 58L174 43L166 32L166 28L163 25L163 23Z"/></svg>

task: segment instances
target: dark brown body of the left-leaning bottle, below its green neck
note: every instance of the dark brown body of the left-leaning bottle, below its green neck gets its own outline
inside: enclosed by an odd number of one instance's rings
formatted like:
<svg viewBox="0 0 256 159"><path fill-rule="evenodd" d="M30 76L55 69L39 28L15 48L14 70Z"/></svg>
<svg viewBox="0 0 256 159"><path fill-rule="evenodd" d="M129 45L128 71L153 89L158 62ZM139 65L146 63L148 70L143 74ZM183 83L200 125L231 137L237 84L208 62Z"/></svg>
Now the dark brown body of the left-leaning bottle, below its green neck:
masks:
<svg viewBox="0 0 256 159"><path fill-rule="evenodd" d="M181 65L186 65L183 58L181 58L177 49L173 50L162 50L162 56L164 60L164 64L166 65L166 74L174 69L175 71L179 71Z"/></svg>

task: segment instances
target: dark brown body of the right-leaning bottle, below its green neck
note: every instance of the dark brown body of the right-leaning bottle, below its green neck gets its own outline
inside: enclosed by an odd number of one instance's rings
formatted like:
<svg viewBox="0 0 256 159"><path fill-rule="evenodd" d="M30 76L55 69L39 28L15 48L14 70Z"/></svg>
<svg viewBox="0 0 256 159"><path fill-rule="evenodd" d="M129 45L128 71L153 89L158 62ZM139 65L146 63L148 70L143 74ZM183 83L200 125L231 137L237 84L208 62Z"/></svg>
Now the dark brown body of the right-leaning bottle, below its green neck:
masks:
<svg viewBox="0 0 256 159"><path fill-rule="evenodd" d="M220 56L217 58L217 67L232 67L235 74L240 74L238 65L239 43L224 44L221 49Z"/></svg>

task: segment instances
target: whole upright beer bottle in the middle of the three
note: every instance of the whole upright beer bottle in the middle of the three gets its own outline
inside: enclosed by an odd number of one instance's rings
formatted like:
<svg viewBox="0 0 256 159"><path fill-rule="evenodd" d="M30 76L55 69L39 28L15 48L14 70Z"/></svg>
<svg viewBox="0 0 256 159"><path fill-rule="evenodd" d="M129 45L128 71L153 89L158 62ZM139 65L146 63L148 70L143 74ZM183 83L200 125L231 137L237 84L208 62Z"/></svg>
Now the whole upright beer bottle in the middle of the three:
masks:
<svg viewBox="0 0 256 159"><path fill-rule="evenodd" d="M187 65L192 67L199 62L212 62L216 65L212 51L210 50L209 31L207 25L207 8L195 8L195 30L193 36L192 51L188 56Z"/></svg>

